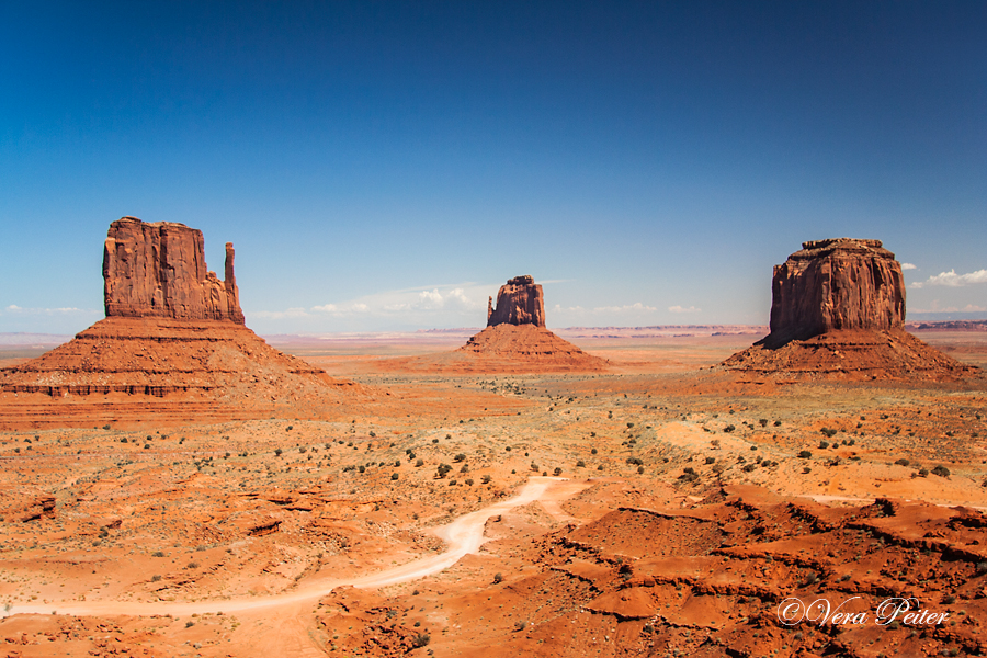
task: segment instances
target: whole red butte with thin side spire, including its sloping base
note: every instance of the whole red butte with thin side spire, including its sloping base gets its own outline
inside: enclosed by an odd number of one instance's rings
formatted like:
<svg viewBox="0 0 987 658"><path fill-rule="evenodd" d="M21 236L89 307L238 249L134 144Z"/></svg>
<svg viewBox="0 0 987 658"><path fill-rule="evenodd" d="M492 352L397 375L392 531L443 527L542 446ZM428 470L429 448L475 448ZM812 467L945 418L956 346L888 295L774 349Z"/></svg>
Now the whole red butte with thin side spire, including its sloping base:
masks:
<svg viewBox="0 0 987 658"><path fill-rule="evenodd" d="M225 270L223 281L207 270L200 230L134 217L111 224L106 318L0 371L0 428L86 427L148 413L175 421L252 418L299 400L326 409L363 395L248 329L231 243Z"/></svg>

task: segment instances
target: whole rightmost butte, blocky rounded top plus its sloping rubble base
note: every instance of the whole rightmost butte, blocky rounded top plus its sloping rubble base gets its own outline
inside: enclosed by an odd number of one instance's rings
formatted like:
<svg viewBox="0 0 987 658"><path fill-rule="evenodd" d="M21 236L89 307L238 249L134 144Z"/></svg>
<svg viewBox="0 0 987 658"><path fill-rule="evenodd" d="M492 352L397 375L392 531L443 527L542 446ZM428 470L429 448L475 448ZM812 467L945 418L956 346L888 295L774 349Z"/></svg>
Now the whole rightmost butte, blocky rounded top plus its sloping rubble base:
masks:
<svg viewBox="0 0 987 658"><path fill-rule="evenodd" d="M771 285L771 332L723 362L809 378L956 379L978 368L905 331L905 280L881 240L802 243Z"/></svg>

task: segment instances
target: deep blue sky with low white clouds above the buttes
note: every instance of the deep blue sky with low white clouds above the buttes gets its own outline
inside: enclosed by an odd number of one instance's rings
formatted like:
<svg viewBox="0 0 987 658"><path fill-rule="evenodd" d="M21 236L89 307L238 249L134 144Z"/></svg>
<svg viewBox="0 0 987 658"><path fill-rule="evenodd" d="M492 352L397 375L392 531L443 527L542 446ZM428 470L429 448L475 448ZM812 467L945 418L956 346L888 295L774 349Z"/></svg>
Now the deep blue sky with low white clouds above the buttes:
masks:
<svg viewBox="0 0 987 658"><path fill-rule="evenodd" d="M124 215L261 333L767 324L803 240L987 317L985 2L0 0L0 331L102 317ZM952 273L952 274L950 274Z"/></svg>

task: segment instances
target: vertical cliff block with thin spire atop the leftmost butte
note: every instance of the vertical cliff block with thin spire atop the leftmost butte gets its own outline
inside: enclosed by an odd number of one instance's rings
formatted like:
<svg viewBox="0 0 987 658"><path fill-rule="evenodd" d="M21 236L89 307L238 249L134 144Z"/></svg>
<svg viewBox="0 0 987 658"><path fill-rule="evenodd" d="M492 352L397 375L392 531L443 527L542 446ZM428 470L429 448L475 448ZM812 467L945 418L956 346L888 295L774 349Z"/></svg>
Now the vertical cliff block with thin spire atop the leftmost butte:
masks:
<svg viewBox="0 0 987 658"><path fill-rule="evenodd" d="M123 217L110 225L103 248L106 317L229 320L242 325L226 243L225 281L206 269L202 231L183 224Z"/></svg>

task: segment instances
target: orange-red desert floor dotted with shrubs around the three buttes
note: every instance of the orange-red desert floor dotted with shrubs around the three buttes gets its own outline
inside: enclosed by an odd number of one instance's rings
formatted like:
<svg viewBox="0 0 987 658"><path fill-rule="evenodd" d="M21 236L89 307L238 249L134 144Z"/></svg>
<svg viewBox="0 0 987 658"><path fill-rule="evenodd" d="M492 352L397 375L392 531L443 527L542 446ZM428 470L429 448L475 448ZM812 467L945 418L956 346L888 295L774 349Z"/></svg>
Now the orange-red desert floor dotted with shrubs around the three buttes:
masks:
<svg viewBox="0 0 987 658"><path fill-rule="evenodd" d="M983 378L755 382L711 366L756 334L560 336L610 372L400 366L456 333L271 340L381 395L0 432L0 657L982 650ZM918 337L987 367L987 333ZM961 624L771 623L830 580Z"/></svg>

